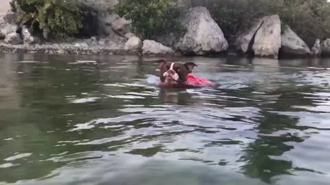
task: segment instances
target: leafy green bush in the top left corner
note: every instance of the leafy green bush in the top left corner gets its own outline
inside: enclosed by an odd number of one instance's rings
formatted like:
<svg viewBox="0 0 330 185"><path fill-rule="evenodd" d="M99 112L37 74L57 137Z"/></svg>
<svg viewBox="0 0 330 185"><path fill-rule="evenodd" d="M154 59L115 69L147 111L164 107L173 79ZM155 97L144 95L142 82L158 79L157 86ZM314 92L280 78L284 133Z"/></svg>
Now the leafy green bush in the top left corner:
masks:
<svg viewBox="0 0 330 185"><path fill-rule="evenodd" d="M41 31L55 38L64 38L78 34L83 27L83 0L14 1L23 12L20 21L30 25L32 32Z"/></svg>

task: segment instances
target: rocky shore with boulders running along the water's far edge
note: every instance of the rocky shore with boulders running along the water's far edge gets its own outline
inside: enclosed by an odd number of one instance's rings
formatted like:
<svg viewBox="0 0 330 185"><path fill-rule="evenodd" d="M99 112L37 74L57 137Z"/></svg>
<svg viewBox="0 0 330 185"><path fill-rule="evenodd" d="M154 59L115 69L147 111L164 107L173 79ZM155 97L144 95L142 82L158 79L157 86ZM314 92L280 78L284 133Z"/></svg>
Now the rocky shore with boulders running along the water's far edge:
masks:
<svg viewBox="0 0 330 185"><path fill-rule="evenodd" d="M95 4L93 4L95 6ZM226 54L229 50L243 56L265 58L305 58L330 56L330 39L316 40L311 48L289 25L281 27L278 15L265 16L250 29L237 34L236 41L228 42L221 27L206 8L191 8L182 18L186 33L176 38L174 34L155 40L141 40L131 33L130 21L104 10L92 18L98 25L95 36L87 39L69 39L64 42L45 41L33 36L27 27L19 25L13 12L0 14L0 52L6 53L59 53L168 56L206 56ZM102 15L102 16L101 16ZM86 23L92 27L93 23ZM90 30L89 27L89 30Z"/></svg>

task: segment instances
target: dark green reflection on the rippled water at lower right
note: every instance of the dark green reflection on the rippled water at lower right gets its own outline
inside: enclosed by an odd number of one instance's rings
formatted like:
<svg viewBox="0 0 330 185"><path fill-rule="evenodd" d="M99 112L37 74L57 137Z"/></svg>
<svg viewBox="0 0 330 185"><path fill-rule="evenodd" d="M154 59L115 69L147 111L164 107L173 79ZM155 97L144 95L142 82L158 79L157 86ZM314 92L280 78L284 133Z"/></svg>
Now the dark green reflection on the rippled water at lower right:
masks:
<svg viewBox="0 0 330 185"><path fill-rule="evenodd" d="M279 92L283 92L281 93L283 97L292 93L285 93L285 88ZM296 96L294 101L294 105L300 106L309 106L311 103L311 100L306 99L304 95ZM292 102L287 102L283 98L276 100L272 108L282 107L289 111L290 106ZM239 161L245 162L241 167L245 175L270 183L275 176L292 173L294 165L289 158L285 158L285 153L293 150L294 145L304 142L307 137L302 136L301 133L309 130L309 127L298 124L299 117L271 113L268 110L262 110L261 114L261 118L257 121L259 125L256 127L259 137L247 145L244 149L245 154Z"/></svg>

